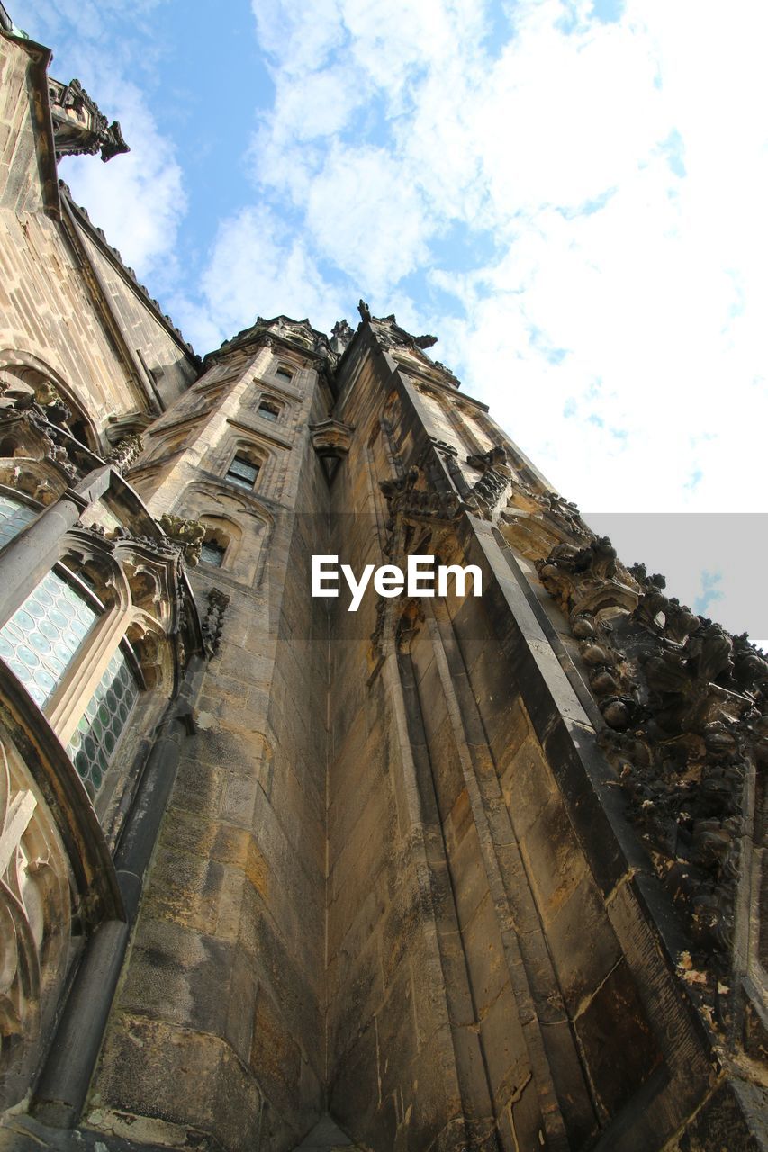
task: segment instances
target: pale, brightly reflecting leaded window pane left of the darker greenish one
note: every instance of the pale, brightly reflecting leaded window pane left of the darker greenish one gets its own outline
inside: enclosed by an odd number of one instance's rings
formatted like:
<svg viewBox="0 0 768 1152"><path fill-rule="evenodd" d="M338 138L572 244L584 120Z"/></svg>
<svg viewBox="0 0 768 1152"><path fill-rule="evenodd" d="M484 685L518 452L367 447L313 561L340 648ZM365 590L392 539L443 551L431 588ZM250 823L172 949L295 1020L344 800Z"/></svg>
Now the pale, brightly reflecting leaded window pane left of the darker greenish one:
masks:
<svg viewBox="0 0 768 1152"><path fill-rule="evenodd" d="M97 617L60 576L48 573L0 628L0 659L39 707L61 683Z"/></svg>

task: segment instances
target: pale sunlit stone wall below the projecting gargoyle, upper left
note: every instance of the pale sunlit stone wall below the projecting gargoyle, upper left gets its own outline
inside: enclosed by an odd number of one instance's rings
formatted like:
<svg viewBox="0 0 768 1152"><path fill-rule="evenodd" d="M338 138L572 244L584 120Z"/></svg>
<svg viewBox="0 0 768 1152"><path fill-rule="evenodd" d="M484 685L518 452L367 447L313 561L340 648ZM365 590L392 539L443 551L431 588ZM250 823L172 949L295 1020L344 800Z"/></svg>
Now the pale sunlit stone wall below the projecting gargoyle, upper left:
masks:
<svg viewBox="0 0 768 1152"><path fill-rule="evenodd" d="M149 366L166 372L159 387L167 401L197 370L146 310L138 286L120 281L118 291L113 273L118 319L104 312L60 206L45 132L46 61L45 50L0 35L0 370L32 370L53 380L88 412L91 447L105 450L111 419L155 406L146 373L121 341L134 353L143 348Z"/></svg>

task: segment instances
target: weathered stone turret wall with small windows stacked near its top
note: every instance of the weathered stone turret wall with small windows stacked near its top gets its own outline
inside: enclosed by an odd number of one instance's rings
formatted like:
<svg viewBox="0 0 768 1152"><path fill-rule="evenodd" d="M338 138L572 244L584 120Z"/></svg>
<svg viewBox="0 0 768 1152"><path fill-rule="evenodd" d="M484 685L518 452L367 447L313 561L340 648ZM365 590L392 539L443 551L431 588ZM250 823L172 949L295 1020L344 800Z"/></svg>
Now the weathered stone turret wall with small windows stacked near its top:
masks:
<svg viewBox="0 0 768 1152"><path fill-rule="evenodd" d="M225 392L213 367L160 423L186 441L153 486L156 513L226 514L241 535L232 562L194 575L201 604L213 586L229 597L220 651L86 1116L134 1139L291 1149L323 1111L327 634L303 577L326 547L327 484L307 426L329 400L302 365L283 422L251 418L254 392L276 392L273 359L234 355ZM243 438L271 454L253 493L224 475ZM141 461L135 472L141 485Z"/></svg>

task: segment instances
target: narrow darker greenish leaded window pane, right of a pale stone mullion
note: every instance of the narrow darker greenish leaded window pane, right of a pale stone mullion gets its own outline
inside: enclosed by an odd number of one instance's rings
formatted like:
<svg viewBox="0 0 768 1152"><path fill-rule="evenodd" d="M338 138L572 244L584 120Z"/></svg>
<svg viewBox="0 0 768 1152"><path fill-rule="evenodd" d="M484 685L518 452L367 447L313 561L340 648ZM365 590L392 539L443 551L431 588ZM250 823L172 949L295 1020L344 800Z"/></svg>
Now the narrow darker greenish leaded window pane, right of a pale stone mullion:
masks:
<svg viewBox="0 0 768 1152"><path fill-rule="evenodd" d="M101 787L137 697L136 679L118 649L67 744L67 753L91 798Z"/></svg>

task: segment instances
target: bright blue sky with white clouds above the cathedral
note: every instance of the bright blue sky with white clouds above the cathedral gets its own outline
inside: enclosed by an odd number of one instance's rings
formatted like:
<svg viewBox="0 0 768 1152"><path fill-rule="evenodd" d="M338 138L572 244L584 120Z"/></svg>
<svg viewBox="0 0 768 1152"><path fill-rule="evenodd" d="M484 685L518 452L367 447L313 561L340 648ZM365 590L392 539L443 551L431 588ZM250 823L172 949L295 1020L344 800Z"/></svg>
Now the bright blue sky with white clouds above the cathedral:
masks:
<svg viewBox="0 0 768 1152"><path fill-rule="evenodd" d="M768 7L8 0L131 147L60 175L204 354L362 296L627 563L768 642Z"/></svg>

